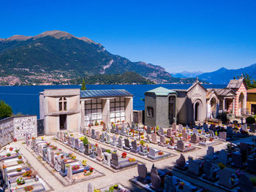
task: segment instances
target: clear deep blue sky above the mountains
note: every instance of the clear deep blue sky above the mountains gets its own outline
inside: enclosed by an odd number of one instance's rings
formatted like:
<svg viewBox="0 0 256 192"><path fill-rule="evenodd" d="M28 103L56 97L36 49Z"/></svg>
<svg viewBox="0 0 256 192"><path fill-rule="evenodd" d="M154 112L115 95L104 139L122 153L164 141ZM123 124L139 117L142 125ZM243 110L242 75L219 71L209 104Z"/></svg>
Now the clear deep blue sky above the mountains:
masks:
<svg viewBox="0 0 256 192"><path fill-rule="evenodd" d="M67 31L168 72L256 63L256 1L6 0L0 18L0 38Z"/></svg>

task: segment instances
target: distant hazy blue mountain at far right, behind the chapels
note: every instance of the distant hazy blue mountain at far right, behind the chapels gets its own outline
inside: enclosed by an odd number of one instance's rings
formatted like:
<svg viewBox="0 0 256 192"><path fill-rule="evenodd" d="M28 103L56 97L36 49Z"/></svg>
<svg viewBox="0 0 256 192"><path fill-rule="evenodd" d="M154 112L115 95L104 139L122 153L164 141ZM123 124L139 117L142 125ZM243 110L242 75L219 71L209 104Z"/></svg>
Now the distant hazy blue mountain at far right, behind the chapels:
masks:
<svg viewBox="0 0 256 192"><path fill-rule="evenodd" d="M214 84L228 84L230 80L233 80L233 77L241 76L242 73L249 74L253 79L256 80L256 64L252 64L240 69L226 69L222 67L215 72L200 74L198 78Z"/></svg>

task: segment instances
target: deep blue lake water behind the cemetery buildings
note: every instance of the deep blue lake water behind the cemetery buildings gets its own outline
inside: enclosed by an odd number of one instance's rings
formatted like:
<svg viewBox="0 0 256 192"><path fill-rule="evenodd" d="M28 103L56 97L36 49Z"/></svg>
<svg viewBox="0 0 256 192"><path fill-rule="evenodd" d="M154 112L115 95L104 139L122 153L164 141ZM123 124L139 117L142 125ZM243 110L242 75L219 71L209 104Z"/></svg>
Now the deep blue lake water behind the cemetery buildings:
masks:
<svg viewBox="0 0 256 192"><path fill-rule="evenodd" d="M92 89L125 89L134 95L133 109L144 110L144 93L154 88L187 89L191 85L160 84L160 85L86 85ZM205 88L225 88L227 85L203 85ZM80 85L35 85L35 86L0 86L0 100L12 107L12 112L24 115L37 115L39 118L39 92L45 89L80 88Z"/></svg>

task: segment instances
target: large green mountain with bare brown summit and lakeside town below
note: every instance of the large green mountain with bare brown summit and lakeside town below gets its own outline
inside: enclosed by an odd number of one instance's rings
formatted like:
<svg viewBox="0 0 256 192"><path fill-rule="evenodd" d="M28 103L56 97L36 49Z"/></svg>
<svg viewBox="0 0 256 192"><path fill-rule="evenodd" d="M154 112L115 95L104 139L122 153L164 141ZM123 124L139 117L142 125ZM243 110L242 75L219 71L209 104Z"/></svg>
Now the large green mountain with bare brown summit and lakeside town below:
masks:
<svg viewBox="0 0 256 192"><path fill-rule="evenodd" d="M155 82L195 82L192 78L172 77L161 66L132 62L113 55L87 37L75 37L64 31L0 39L0 82L7 77L17 77L17 81L25 85L31 82L67 82L89 74L124 72L136 72Z"/></svg>

